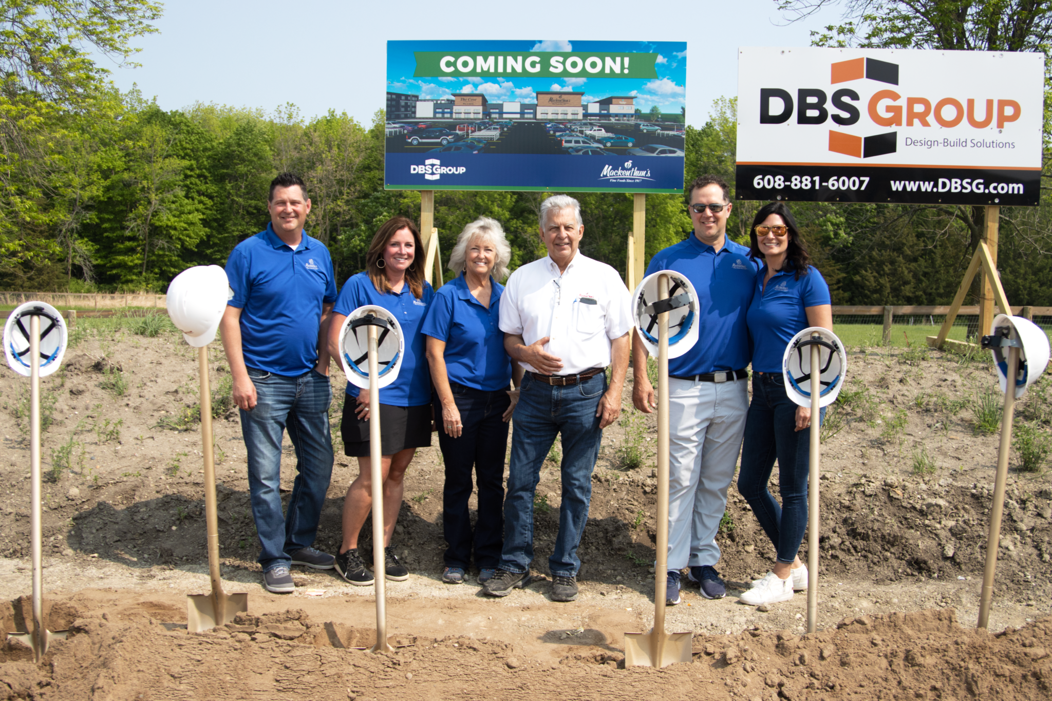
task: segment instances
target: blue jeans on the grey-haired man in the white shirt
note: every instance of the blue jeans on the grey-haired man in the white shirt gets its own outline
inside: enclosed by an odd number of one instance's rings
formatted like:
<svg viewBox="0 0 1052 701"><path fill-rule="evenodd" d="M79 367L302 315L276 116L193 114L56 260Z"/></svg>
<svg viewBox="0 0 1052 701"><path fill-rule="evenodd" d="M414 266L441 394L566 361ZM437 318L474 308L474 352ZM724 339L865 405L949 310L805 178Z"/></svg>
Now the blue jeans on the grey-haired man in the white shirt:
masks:
<svg viewBox="0 0 1052 701"><path fill-rule="evenodd" d="M563 494L559 535L548 558L548 569L552 576L566 577L575 576L581 569L578 545L588 520L591 473L603 438L595 410L605 391L606 373L603 372L568 387L546 385L533 379L528 372L523 378L512 416L502 570L527 572L533 561L533 495L541 480L541 466L557 434L562 434L563 438Z"/></svg>

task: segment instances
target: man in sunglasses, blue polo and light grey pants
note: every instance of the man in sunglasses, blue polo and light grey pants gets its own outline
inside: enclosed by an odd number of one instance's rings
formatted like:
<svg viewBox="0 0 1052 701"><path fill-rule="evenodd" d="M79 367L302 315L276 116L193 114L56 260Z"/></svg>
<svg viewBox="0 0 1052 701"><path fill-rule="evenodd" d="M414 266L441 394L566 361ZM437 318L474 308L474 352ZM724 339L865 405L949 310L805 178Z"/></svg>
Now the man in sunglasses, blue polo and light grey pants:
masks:
<svg viewBox="0 0 1052 701"><path fill-rule="evenodd" d="M690 185L693 235L660 251L647 267L648 275L659 270L684 273L699 296L697 343L668 364L669 604L680 603L680 571L686 566L702 596L727 595L714 569L720 560L715 537L749 410L745 317L756 282L749 249L727 238L730 210L727 183L716 176L700 176ZM632 404L649 414L658 404L647 378L647 350L636 335L632 346Z"/></svg>

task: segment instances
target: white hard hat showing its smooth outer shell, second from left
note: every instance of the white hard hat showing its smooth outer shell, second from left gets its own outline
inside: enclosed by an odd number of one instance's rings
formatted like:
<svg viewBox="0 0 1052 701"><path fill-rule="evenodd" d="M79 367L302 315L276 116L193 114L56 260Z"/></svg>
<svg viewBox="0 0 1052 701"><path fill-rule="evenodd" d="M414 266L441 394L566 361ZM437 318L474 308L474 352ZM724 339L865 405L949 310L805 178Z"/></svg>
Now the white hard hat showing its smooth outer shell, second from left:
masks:
<svg viewBox="0 0 1052 701"><path fill-rule="evenodd" d="M226 311L230 283L218 265L197 265L176 275L164 300L168 316L190 346L207 346Z"/></svg>

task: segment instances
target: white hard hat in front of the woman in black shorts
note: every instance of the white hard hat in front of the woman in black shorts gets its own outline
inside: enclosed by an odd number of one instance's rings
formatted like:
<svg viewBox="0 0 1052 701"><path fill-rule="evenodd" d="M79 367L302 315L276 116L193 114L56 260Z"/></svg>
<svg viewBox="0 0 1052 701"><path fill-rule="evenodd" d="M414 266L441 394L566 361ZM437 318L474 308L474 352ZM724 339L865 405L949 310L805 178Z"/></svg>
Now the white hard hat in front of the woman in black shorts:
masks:
<svg viewBox="0 0 1052 701"><path fill-rule="evenodd" d="M369 326L379 327L377 364L381 389L398 379L405 357L405 337L393 314L373 305L350 312L340 327L340 364L347 380L363 390L369 389Z"/></svg>

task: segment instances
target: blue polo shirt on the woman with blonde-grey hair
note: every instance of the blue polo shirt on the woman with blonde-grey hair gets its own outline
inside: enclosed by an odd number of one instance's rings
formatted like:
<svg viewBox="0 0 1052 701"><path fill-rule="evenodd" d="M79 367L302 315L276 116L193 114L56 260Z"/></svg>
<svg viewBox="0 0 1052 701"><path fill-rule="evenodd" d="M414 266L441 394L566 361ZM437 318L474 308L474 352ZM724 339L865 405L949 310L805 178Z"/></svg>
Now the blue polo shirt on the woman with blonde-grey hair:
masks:
<svg viewBox="0 0 1052 701"><path fill-rule="evenodd" d="M508 389L511 358L504 350L500 328L501 293L504 286L489 279L489 309L479 304L467 288L464 273L439 288L423 333L446 342L443 357L449 379L477 390Z"/></svg>

